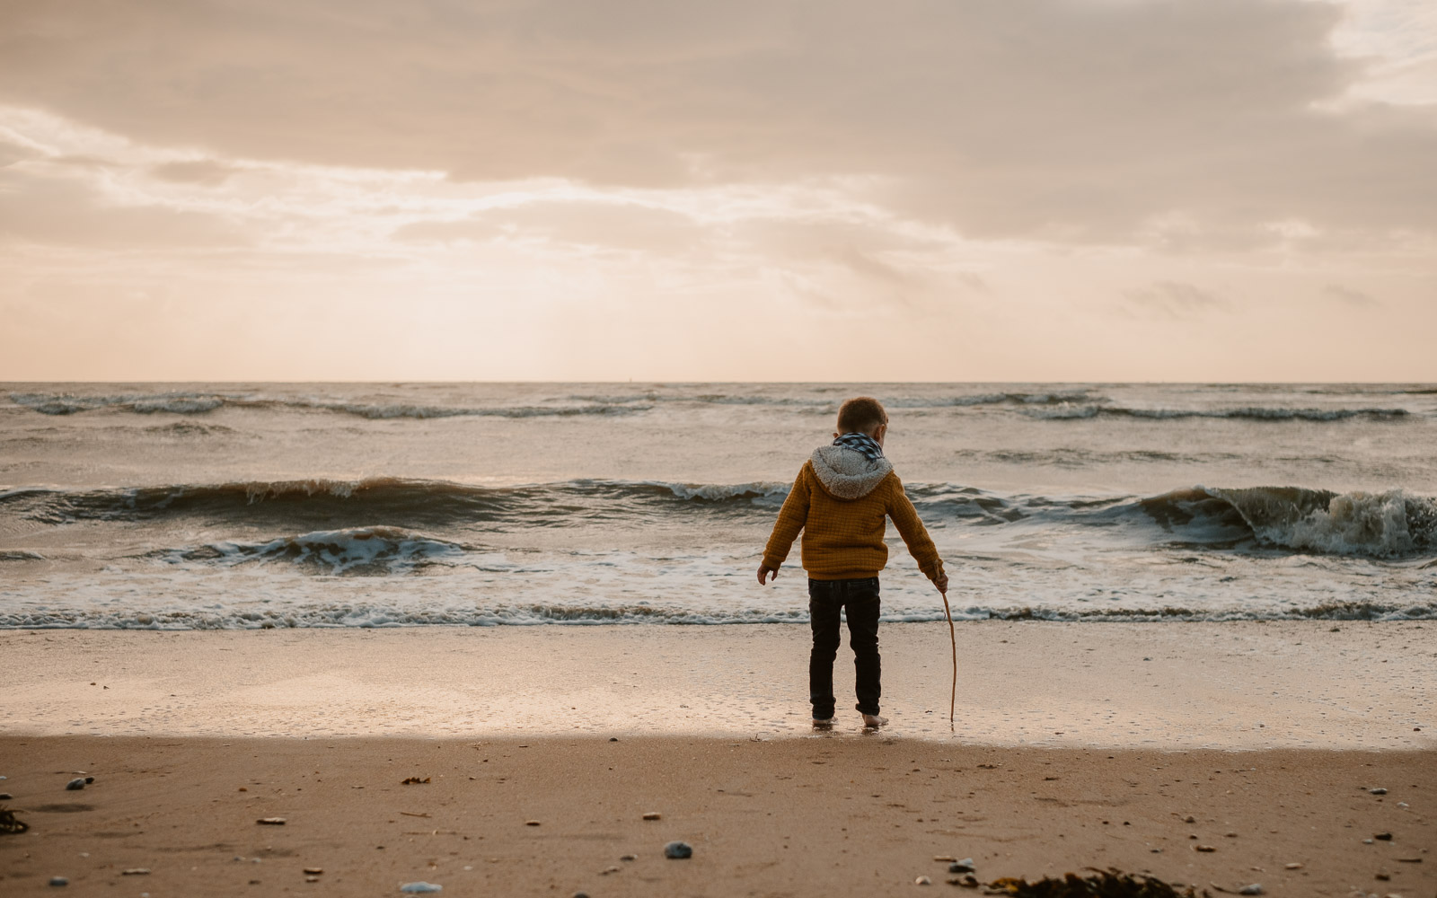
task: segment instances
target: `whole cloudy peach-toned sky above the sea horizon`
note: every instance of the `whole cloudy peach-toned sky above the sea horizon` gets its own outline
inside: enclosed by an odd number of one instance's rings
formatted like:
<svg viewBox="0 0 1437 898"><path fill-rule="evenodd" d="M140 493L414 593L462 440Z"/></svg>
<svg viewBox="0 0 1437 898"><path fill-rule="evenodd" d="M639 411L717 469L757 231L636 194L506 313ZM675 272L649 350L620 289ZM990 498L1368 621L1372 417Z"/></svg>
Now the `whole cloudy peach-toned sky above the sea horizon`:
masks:
<svg viewBox="0 0 1437 898"><path fill-rule="evenodd" d="M1431 0L3 0L0 379L1437 381Z"/></svg>

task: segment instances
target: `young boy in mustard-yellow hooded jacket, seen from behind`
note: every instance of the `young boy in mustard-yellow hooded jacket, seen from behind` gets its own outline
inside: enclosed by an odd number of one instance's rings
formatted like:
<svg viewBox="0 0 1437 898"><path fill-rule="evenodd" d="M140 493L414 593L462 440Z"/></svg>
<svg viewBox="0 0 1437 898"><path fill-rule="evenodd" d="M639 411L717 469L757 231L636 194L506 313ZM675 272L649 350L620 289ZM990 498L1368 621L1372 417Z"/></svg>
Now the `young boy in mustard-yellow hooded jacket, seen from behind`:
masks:
<svg viewBox="0 0 1437 898"><path fill-rule="evenodd" d="M888 723L878 714L878 572L888 562L884 517L892 517L918 569L938 592L948 591L943 559L918 520L894 466L884 458L888 412L871 397L848 399L838 409L832 445L821 445L803 463L783 501L773 534L763 549L759 583L779 576L793 539L803 532L803 569L809 575L809 701L813 726L833 726L833 658L838 612L848 609L848 644L854 649L858 711L865 727Z"/></svg>

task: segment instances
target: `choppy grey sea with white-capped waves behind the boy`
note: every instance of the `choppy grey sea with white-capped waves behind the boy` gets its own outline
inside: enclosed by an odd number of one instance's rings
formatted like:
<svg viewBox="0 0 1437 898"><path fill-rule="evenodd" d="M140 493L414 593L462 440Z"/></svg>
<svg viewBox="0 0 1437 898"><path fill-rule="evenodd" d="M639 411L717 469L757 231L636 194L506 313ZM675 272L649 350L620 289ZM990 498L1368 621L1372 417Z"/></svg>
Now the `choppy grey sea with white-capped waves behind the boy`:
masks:
<svg viewBox="0 0 1437 898"><path fill-rule="evenodd" d="M0 628L806 625L854 395L960 625L1437 616L1431 384L4 384Z"/></svg>

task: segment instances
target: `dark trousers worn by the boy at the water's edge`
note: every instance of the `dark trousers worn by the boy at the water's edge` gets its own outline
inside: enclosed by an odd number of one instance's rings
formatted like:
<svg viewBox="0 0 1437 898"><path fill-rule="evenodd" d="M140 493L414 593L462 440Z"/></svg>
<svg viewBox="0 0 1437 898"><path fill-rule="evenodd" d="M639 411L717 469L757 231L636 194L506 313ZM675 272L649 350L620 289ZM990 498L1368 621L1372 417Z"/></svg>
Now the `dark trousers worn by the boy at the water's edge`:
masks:
<svg viewBox="0 0 1437 898"><path fill-rule="evenodd" d="M833 658L839 645L839 611L848 611L848 645L854 649L858 710L878 713L882 672L878 658L878 578L861 580L809 580L809 624L813 651L809 654L809 701L813 717L833 716Z"/></svg>

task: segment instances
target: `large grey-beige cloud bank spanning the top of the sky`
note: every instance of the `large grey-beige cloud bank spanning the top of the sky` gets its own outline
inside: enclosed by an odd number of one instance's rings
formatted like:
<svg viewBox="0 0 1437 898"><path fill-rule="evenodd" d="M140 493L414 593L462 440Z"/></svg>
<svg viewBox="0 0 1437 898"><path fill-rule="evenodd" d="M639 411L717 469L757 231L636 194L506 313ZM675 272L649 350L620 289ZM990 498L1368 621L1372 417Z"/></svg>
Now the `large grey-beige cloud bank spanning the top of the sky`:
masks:
<svg viewBox="0 0 1437 898"><path fill-rule="evenodd" d="M1437 233L1437 121L1332 105L1369 63L1334 50L1325 3L16 0L6 19L0 101L221 158L859 177L855 197L979 239L1135 241L1173 213L1211 234Z"/></svg>

